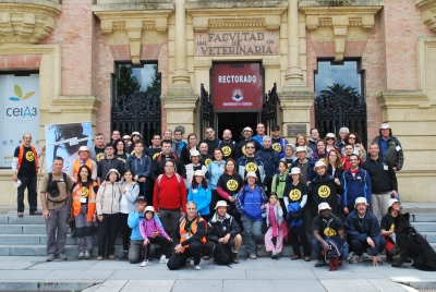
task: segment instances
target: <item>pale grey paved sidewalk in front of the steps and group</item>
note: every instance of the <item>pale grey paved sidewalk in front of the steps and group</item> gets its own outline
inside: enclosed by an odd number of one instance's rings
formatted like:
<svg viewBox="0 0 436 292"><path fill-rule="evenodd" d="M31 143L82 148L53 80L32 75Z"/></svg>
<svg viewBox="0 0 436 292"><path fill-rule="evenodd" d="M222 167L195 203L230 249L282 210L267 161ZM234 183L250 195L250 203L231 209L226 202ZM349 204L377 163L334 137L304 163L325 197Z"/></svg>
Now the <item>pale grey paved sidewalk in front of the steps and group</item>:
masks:
<svg viewBox="0 0 436 292"><path fill-rule="evenodd" d="M360 264L344 263L337 271L315 268L315 260L290 260L268 257L241 259L238 265L218 266L202 260L202 270L186 266L168 270L156 259L141 268L126 260L97 261L70 258L45 261L45 257L0 257L0 290L2 291L416 291L435 288L436 273L414 268L391 268L388 264L373 267L370 259Z"/></svg>

